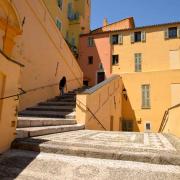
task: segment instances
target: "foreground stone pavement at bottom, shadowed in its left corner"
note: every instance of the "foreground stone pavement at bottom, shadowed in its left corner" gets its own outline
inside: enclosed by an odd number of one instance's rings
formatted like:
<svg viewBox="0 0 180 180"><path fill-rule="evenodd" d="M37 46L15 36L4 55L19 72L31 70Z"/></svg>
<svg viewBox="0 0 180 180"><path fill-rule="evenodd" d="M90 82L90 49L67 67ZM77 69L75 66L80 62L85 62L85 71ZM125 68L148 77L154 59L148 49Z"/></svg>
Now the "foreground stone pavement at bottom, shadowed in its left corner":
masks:
<svg viewBox="0 0 180 180"><path fill-rule="evenodd" d="M11 150L0 156L0 179L179 180L180 166Z"/></svg>

